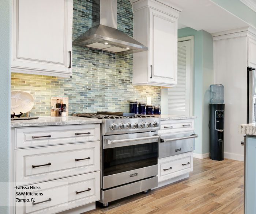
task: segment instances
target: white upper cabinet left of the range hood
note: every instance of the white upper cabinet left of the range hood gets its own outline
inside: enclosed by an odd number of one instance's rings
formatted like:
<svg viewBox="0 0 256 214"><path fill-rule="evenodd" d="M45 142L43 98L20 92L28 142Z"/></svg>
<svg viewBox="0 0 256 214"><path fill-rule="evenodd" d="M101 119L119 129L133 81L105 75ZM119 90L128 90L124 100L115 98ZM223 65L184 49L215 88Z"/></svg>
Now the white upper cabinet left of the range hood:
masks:
<svg viewBox="0 0 256 214"><path fill-rule="evenodd" d="M69 77L73 0L13 0L12 7L12 72Z"/></svg>

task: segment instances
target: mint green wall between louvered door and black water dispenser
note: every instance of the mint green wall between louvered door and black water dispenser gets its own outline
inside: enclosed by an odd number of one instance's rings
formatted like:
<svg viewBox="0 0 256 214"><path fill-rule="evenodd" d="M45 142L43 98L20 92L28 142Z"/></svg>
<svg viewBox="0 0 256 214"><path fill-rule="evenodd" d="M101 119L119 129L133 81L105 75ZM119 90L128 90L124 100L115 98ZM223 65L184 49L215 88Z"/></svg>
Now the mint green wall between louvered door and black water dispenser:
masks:
<svg viewBox="0 0 256 214"><path fill-rule="evenodd" d="M213 41L206 31L196 31L190 27L178 30L178 38L194 36L194 115L195 153L209 152L209 86L213 83Z"/></svg>

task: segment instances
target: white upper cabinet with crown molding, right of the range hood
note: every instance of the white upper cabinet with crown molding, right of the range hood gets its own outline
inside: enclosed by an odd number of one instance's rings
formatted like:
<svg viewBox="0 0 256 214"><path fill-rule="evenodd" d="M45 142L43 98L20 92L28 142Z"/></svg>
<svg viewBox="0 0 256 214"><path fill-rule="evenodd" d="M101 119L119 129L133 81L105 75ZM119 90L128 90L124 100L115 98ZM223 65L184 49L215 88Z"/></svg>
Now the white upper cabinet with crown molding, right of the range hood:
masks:
<svg viewBox="0 0 256 214"><path fill-rule="evenodd" d="M133 85L176 86L178 11L139 0L133 12L133 38L148 47L133 54Z"/></svg>

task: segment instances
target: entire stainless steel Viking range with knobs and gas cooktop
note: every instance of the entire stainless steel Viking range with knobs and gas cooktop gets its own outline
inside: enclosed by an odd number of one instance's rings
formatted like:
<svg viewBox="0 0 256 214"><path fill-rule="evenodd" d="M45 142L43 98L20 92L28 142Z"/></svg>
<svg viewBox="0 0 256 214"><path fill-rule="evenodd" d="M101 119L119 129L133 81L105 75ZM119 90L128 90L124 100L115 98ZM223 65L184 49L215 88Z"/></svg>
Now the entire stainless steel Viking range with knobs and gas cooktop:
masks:
<svg viewBox="0 0 256 214"><path fill-rule="evenodd" d="M102 120L101 203L157 187L160 118L97 112L73 116Z"/></svg>

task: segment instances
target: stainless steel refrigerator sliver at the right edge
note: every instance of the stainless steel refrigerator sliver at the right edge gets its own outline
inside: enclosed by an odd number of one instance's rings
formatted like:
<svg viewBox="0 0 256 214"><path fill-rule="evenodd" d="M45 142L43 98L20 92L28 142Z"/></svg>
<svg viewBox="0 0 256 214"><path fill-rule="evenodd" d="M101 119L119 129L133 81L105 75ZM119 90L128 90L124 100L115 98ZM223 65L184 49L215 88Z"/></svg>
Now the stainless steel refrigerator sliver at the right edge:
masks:
<svg viewBox="0 0 256 214"><path fill-rule="evenodd" d="M256 122L256 70L247 69L247 123Z"/></svg>

